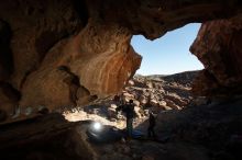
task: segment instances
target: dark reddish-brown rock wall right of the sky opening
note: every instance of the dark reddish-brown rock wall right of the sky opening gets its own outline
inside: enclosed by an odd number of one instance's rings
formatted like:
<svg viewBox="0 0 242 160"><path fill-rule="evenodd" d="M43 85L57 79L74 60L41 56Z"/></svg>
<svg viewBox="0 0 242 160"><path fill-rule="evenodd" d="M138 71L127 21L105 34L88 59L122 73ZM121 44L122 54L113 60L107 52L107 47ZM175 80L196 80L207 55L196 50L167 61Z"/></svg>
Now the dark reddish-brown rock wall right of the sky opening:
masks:
<svg viewBox="0 0 242 160"><path fill-rule="evenodd" d="M231 95L242 91L242 19L204 23L190 50L202 61L194 92Z"/></svg>

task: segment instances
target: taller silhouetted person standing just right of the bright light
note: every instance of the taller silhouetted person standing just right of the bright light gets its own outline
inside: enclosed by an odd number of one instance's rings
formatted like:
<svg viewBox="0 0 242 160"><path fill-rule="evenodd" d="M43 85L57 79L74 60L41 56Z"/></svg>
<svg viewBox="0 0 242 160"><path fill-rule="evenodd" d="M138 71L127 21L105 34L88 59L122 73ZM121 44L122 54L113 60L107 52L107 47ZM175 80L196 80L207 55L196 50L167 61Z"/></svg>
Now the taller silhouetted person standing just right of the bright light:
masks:
<svg viewBox="0 0 242 160"><path fill-rule="evenodd" d="M129 103L121 105L117 108L117 111L122 110L127 116L127 134L128 137L132 137L133 133L133 117L134 117L134 104L133 100L130 100Z"/></svg>

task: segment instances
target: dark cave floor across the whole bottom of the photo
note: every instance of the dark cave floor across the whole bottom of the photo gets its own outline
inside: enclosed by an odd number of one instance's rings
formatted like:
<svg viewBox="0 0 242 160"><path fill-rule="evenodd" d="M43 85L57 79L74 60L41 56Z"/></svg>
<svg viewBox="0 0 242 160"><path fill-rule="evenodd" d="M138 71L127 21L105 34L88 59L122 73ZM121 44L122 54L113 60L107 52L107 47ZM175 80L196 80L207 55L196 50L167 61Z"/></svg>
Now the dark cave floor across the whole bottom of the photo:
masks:
<svg viewBox="0 0 242 160"><path fill-rule="evenodd" d="M242 100L162 113L156 132L167 139L94 144L90 121L47 114L0 126L1 159L240 160ZM138 129L145 130L144 122Z"/></svg>

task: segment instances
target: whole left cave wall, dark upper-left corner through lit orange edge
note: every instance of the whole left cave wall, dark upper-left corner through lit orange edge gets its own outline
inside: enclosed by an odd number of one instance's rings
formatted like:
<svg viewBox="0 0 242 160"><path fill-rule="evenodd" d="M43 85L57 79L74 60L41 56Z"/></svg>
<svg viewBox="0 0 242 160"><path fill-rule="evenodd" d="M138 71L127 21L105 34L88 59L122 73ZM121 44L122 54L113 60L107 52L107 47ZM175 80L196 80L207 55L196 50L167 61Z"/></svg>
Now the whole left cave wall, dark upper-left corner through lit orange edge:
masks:
<svg viewBox="0 0 242 160"><path fill-rule="evenodd" d="M15 106L82 105L120 91L140 67L130 31L91 18L87 23L85 3L1 3L0 78L20 92Z"/></svg>

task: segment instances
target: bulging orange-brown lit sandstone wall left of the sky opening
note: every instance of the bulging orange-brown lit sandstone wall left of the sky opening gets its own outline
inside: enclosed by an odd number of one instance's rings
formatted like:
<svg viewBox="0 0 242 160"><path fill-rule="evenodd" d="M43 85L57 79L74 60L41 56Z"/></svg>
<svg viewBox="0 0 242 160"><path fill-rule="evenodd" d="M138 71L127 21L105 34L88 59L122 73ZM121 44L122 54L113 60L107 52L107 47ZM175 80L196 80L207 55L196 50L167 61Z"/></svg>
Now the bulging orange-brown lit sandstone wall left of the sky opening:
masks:
<svg viewBox="0 0 242 160"><path fill-rule="evenodd" d="M128 31L105 28L108 26L88 24L52 48L40 69L26 79L20 105L75 106L120 91L141 57L130 46ZM82 100L88 95L89 101Z"/></svg>

